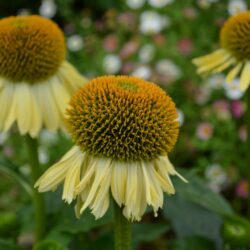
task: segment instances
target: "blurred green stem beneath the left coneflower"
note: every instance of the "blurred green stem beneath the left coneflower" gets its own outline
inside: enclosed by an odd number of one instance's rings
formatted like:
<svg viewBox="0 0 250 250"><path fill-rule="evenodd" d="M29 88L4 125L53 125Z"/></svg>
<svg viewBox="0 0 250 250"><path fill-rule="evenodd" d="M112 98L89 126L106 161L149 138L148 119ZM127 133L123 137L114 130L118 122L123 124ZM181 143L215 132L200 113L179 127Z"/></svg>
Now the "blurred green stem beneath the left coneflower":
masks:
<svg viewBox="0 0 250 250"><path fill-rule="evenodd" d="M26 144L29 153L30 162L30 172L32 178L32 185L41 175L40 164L38 160L38 143L36 139L32 139L30 136L26 135ZM33 202L35 208L35 234L36 241L41 240L45 233L45 204L43 195L38 193L36 189L33 188Z"/></svg>

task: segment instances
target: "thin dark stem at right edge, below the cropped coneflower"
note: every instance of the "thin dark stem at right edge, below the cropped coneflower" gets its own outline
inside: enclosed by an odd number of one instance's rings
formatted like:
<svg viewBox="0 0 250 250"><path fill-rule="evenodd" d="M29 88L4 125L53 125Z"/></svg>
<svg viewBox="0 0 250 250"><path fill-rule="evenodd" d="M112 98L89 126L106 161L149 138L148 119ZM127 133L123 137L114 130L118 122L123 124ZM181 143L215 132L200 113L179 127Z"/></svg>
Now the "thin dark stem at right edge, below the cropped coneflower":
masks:
<svg viewBox="0 0 250 250"><path fill-rule="evenodd" d="M246 175L248 178L248 182L250 183L250 88L248 88L246 92L246 124L247 124L247 155L246 155ZM248 215L250 216L250 196L248 197Z"/></svg>

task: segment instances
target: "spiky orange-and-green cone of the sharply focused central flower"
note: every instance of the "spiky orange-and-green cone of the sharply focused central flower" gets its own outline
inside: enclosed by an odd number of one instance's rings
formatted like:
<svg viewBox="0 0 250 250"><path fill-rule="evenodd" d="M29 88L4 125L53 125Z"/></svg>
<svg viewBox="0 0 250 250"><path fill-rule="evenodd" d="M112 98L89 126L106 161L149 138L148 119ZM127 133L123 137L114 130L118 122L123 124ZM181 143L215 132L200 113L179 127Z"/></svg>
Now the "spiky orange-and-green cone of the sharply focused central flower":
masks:
<svg viewBox="0 0 250 250"><path fill-rule="evenodd" d="M172 99L155 84L128 76L96 78L71 99L68 128L92 155L122 161L152 160L176 143Z"/></svg>

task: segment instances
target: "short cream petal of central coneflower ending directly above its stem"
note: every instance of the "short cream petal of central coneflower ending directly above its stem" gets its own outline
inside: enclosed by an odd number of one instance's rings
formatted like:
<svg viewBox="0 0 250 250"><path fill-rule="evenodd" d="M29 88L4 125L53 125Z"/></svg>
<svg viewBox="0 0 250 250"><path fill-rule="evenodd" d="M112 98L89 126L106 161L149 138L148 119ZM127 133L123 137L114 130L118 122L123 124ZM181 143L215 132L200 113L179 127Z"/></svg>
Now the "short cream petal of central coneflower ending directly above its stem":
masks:
<svg viewBox="0 0 250 250"><path fill-rule="evenodd" d="M111 192L119 206L125 203L127 168L122 162L112 166Z"/></svg>

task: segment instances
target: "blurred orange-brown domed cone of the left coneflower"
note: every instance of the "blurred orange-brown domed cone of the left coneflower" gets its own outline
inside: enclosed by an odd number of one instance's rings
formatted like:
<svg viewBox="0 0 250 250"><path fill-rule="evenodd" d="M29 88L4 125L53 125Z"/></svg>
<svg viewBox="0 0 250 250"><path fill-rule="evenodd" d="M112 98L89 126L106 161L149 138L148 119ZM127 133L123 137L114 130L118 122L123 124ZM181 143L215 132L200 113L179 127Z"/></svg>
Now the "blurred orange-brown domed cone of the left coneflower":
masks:
<svg viewBox="0 0 250 250"><path fill-rule="evenodd" d="M52 76L65 58L64 35L39 16L0 20L0 76L35 83Z"/></svg>

